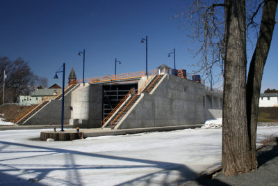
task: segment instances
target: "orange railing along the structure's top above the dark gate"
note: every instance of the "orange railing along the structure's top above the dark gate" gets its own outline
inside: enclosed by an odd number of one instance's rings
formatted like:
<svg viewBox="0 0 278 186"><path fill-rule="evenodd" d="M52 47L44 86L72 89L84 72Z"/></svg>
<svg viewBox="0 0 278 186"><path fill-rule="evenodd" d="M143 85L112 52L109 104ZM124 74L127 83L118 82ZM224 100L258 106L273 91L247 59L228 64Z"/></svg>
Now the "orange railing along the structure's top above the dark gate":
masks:
<svg viewBox="0 0 278 186"><path fill-rule="evenodd" d="M157 70L148 70L148 75L156 75ZM146 71L140 71L140 72L128 72L124 74L117 74L117 75L105 75L101 77L90 77L85 78L85 83L97 83L97 82L110 82L113 80L127 80L127 79L133 79L133 78L139 78L144 77L146 75ZM83 79L78 80L79 84L83 82Z"/></svg>

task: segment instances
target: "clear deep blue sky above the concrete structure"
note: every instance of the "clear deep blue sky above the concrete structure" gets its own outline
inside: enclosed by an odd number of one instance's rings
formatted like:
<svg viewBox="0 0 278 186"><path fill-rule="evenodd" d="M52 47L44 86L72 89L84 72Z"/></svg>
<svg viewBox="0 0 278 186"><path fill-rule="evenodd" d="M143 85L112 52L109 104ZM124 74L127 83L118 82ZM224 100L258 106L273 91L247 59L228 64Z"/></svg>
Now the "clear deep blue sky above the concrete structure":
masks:
<svg viewBox="0 0 278 186"><path fill-rule="evenodd" d="M35 74L49 79L49 86L61 84L53 79L65 63L66 78L74 67L78 78L111 75L115 58L121 61L117 73L145 70L145 43L148 36L148 69L165 63L174 66L168 52L176 49L177 68L193 72L193 59L188 48L194 45L181 30L179 20L170 17L183 0L1 0L0 56L28 61ZM262 91L278 89L277 45L275 30L263 75ZM252 53L252 52L250 52ZM61 75L60 75L61 77ZM208 82L208 81L207 81Z"/></svg>

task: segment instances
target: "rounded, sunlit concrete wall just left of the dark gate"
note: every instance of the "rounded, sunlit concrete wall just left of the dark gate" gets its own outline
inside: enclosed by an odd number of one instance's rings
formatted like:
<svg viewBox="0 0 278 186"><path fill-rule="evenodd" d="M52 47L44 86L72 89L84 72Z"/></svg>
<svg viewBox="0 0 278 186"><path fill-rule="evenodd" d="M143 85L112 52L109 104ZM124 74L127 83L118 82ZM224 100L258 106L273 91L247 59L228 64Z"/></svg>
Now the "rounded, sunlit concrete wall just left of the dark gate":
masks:
<svg viewBox="0 0 278 186"><path fill-rule="evenodd" d="M101 127L102 85L85 84L72 92L72 125Z"/></svg>

